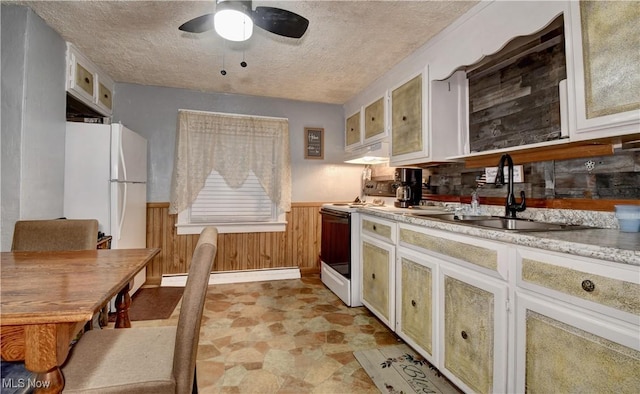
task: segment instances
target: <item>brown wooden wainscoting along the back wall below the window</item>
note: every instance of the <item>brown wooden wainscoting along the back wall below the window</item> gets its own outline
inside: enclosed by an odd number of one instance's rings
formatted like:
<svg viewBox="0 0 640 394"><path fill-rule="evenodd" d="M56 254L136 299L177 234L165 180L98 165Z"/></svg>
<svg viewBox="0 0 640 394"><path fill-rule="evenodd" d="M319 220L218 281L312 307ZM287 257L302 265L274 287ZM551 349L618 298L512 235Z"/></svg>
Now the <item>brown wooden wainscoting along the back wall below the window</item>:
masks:
<svg viewBox="0 0 640 394"><path fill-rule="evenodd" d="M292 203L284 232L220 234L213 271L298 267L303 275L319 273L321 205ZM147 266L146 285L189 270L198 235L177 235L177 217L169 214L169 203L147 204L147 247L161 252Z"/></svg>

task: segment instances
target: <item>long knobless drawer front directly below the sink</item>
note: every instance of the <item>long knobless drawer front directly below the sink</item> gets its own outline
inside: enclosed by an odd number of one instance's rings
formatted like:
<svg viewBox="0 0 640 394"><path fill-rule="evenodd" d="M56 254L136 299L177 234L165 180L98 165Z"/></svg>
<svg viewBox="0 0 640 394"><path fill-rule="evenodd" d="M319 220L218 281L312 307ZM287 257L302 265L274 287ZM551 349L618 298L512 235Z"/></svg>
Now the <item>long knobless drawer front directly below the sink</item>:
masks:
<svg viewBox="0 0 640 394"><path fill-rule="evenodd" d="M415 226L400 226L398 233L400 243L412 249L451 257L507 279L505 264L501 263L506 261L504 245Z"/></svg>

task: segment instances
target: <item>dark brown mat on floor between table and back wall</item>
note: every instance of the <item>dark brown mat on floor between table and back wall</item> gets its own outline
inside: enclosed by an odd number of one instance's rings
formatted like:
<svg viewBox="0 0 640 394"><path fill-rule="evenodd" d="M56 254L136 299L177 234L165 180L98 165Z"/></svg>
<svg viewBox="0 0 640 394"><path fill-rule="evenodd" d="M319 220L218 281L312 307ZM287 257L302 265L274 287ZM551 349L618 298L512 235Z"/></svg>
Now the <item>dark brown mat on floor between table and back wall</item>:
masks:
<svg viewBox="0 0 640 394"><path fill-rule="evenodd" d="M148 287L142 288L131 298L129 320L168 319L178 305L184 287ZM109 321L116 320L116 314L109 314Z"/></svg>

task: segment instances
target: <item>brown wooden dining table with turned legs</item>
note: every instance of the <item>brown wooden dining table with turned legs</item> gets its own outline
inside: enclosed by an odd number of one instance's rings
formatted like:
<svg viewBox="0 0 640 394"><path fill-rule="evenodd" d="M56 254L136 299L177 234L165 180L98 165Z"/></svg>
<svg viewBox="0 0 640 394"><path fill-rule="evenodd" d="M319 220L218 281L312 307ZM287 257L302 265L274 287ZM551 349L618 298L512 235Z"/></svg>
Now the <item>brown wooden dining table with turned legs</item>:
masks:
<svg viewBox="0 0 640 394"><path fill-rule="evenodd" d="M2 359L24 361L37 373L29 382L37 392L62 391L60 366L72 340L116 295L116 327L130 326L129 283L159 252L149 248L1 253Z"/></svg>

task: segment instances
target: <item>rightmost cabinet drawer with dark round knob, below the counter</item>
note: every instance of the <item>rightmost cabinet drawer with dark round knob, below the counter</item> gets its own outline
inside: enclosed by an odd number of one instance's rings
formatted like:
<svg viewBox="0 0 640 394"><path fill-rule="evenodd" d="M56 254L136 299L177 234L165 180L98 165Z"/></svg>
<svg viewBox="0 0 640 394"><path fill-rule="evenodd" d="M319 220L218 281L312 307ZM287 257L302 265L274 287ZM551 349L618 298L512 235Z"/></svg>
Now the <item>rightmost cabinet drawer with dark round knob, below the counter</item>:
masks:
<svg viewBox="0 0 640 394"><path fill-rule="evenodd" d="M519 286L636 324L640 322L639 278L637 266L518 249Z"/></svg>

